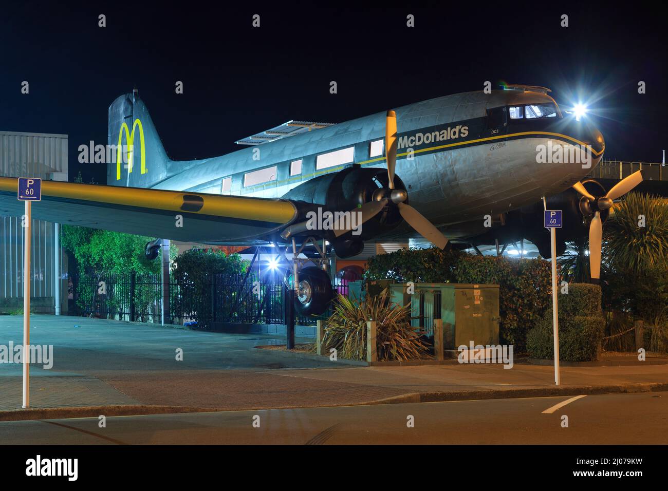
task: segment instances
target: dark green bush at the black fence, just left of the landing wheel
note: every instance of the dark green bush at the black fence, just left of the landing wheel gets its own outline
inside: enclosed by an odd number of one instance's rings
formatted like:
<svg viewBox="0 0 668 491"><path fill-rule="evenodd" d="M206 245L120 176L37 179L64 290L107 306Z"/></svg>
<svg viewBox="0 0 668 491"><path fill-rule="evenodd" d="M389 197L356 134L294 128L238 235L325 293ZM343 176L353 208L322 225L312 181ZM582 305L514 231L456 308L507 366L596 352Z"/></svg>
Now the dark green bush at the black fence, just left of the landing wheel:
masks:
<svg viewBox="0 0 668 491"><path fill-rule="evenodd" d="M174 260L172 277L178 288L176 311L191 313L198 327L208 329L212 320L211 285L214 275L245 273L248 261L238 254L190 249ZM229 299L230 304L233 299ZM196 306L194 309L191 306ZM231 305L228 305L231 308ZM241 307L242 308L242 307Z"/></svg>

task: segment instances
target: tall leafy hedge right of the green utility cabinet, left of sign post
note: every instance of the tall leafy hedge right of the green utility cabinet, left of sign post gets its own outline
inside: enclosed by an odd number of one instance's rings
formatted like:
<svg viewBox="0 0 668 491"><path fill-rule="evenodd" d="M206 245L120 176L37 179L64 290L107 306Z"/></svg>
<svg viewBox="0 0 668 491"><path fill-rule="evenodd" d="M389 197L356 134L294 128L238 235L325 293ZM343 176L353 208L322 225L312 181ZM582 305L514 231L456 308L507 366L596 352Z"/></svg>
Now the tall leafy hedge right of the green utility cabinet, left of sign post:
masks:
<svg viewBox="0 0 668 491"><path fill-rule="evenodd" d="M499 285L499 337L518 352L526 349L526 331L550 305L550 263L542 259L508 259L462 255L458 283Z"/></svg>

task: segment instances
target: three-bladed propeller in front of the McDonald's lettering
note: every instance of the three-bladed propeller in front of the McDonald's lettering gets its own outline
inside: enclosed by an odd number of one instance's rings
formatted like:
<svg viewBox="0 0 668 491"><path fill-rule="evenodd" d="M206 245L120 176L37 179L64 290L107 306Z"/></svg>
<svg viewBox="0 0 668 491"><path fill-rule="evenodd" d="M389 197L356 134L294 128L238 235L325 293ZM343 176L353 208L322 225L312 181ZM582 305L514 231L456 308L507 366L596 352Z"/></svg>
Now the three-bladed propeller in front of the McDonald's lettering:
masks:
<svg viewBox="0 0 668 491"><path fill-rule="evenodd" d="M385 206L391 202L399 208L401 218L413 227L416 232L432 242L432 244L440 247L440 249L444 249L446 244L448 244L448 239L432 222L422 216L418 210L405 203L405 200L408 199L408 193L405 190L394 188L394 168L397 162L397 114L392 110L387 111L387 116L385 117L385 149L389 189L377 189L373 193L371 201L364 203L351 212L361 212L361 223L364 223L383 211ZM350 230L350 228L340 228L334 230L334 234L339 237Z"/></svg>

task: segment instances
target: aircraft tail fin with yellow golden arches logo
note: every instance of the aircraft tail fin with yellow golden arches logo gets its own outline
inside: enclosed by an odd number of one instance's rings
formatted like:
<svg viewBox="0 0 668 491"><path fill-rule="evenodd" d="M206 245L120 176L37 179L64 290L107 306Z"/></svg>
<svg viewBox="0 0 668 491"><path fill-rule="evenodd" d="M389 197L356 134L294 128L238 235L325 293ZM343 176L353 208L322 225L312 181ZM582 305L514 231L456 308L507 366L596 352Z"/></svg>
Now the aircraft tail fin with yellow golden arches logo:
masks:
<svg viewBox="0 0 668 491"><path fill-rule="evenodd" d="M167 177L169 158L136 89L109 106L107 140L107 184L146 188Z"/></svg>

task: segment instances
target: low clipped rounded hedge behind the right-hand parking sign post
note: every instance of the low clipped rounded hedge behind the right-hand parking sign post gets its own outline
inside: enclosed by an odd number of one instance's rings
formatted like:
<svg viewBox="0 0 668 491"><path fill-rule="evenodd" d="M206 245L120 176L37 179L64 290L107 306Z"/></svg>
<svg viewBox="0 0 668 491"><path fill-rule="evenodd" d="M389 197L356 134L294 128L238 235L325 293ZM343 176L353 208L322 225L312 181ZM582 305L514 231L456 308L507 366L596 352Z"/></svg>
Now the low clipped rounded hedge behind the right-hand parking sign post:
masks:
<svg viewBox="0 0 668 491"><path fill-rule="evenodd" d="M568 286L568 294L559 295L559 359L594 361L603 339L605 319L601 315L601 287L584 283ZM527 334L529 355L554 359L552 305Z"/></svg>

